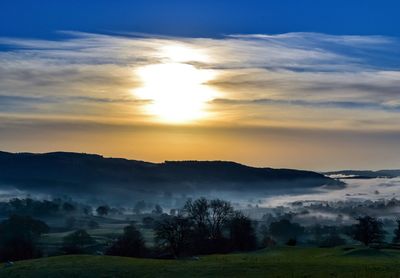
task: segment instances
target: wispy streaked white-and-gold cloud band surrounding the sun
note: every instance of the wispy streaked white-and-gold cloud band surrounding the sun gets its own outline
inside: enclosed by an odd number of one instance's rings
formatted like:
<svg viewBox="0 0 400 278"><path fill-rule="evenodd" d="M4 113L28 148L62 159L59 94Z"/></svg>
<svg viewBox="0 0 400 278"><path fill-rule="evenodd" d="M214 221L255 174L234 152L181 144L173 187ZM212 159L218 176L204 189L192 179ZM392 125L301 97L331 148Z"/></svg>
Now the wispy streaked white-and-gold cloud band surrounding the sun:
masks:
<svg viewBox="0 0 400 278"><path fill-rule="evenodd" d="M330 125L394 129L400 120L400 42L383 36L318 33L220 39L65 32L57 41L0 38L0 114L146 122L150 100L132 94L139 67L182 62L212 69L219 95L210 125ZM329 111L329 113L326 113Z"/></svg>

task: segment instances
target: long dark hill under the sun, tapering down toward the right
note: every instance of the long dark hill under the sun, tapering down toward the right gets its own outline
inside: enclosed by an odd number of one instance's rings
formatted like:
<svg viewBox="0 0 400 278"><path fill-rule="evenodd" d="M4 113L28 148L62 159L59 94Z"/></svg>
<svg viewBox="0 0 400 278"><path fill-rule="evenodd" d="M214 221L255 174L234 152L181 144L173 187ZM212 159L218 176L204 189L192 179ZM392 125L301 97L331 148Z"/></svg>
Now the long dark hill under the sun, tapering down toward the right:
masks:
<svg viewBox="0 0 400 278"><path fill-rule="evenodd" d="M150 163L79 153L0 153L0 183L59 192L190 192L313 188L339 182L322 174L227 161Z"/></svg>

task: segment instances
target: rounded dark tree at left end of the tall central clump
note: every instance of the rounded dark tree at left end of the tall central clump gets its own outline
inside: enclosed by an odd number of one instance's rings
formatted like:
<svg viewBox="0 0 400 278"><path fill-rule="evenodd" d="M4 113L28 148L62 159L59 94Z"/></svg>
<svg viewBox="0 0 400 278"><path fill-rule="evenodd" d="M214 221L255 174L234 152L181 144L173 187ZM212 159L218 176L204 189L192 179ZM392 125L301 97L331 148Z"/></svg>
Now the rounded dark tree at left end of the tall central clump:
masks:
<svg viewBox="0 0 400 278"><path fill-rule="evenodd" d="M156 242L162 249L174 257L191 252L189 248L192 237L192 223L184 217L168 217L159 222L155 228Z"/></svg>

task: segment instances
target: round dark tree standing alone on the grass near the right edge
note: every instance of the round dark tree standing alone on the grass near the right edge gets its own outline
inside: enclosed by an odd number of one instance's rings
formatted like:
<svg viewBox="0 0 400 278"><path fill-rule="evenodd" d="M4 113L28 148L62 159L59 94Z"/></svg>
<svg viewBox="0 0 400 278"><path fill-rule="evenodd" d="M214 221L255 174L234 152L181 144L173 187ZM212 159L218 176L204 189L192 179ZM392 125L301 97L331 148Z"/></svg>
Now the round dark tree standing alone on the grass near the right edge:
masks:
<svg viewBox="0 0 400 278"><path fill-rule="evenodd" d="M353 225L351 232L354 240L360 241L366 246L383 240L385 231L381 221L371 216L359 217L357 221L358 223Z"/></svg>

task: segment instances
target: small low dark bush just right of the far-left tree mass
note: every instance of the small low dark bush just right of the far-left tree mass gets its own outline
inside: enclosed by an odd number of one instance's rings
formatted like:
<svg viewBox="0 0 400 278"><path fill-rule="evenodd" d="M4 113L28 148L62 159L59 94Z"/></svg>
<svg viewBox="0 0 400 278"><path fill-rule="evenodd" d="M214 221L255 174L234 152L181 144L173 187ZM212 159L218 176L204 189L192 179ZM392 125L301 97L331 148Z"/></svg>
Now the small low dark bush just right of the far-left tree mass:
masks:
<svg viewBox="0 0 400 278"><path fill-rule="evenodd" d="M93 244L94 239L83 229L79 229L63 238L63 251L67 254L81 254Z"/></svg>

